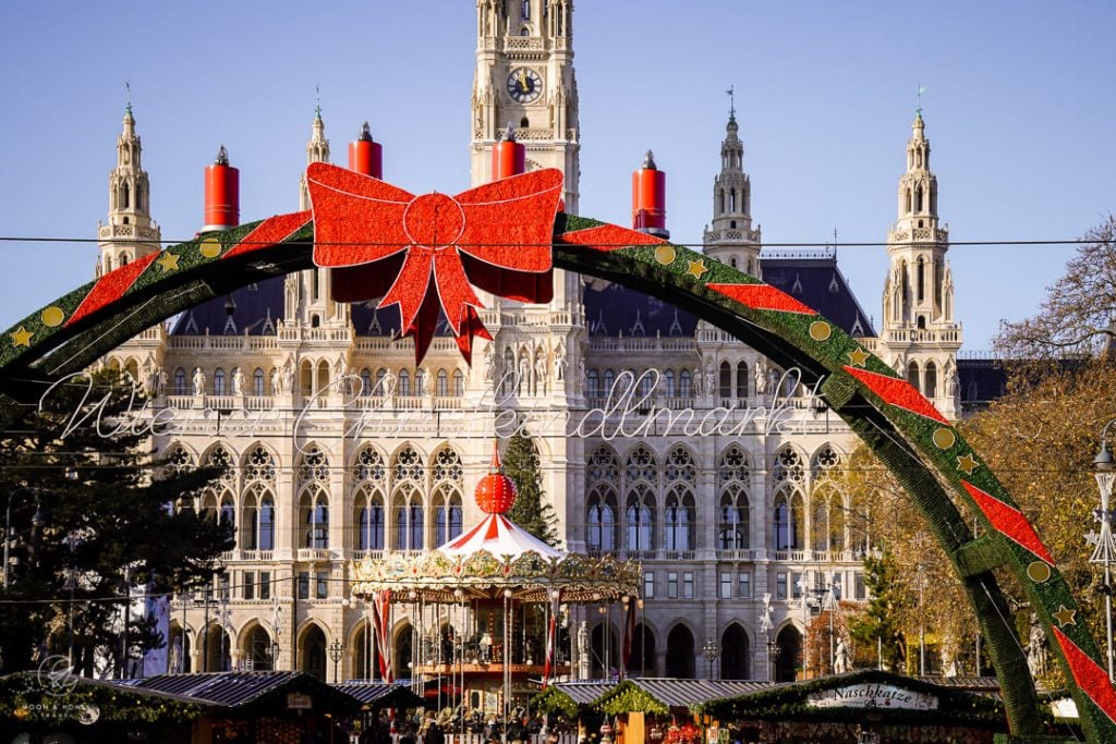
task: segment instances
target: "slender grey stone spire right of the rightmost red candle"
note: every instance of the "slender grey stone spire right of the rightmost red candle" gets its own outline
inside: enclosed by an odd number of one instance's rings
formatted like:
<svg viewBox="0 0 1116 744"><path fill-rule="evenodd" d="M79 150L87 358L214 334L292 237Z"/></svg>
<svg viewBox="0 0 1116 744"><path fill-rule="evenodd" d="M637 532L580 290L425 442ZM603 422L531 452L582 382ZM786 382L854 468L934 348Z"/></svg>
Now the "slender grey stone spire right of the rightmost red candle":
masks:
<svg viewBox="0 0 1116 744"><path fill-rule="evenodd" d="M721 143L721 173L713 180L713 228L705 230L705 253L733 268L759 276L762 238L752 230L752 184L744 173L744 143L740 141L735 108Z"/></svg>

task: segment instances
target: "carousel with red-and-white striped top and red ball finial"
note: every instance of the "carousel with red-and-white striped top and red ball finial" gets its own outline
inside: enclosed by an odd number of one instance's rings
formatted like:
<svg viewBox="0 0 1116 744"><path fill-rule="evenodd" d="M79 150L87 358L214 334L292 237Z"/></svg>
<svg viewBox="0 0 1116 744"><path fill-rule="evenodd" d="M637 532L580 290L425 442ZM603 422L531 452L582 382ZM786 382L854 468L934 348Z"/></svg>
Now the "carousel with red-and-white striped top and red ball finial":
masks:
<svg viewBox="0 0 1116 744"><path fill-rule="evenodd" d="M410 678L454 727L494 719L507 726L540 688L576 676L578 661L588 666L584 622L571 628L586 606L619 602L634 611L642 568L559 550L511 522L516 484L498 447L475 499L485 516L437 549L355 563L353 593L372 609L385 679ZM410 659L393 659L392 649L405 647L392 642L404 617Z"/></svg>

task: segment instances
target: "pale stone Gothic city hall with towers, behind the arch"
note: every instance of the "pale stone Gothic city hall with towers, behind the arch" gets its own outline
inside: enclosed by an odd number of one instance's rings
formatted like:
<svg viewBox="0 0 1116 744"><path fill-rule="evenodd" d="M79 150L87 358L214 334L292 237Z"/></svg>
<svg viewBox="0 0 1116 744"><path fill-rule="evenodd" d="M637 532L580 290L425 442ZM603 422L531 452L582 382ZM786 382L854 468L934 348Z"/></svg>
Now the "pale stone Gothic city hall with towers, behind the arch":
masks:
<svg viewBox="0 0 1116 744"><path fill-rule="evenodd" d="M473 185L485 183L493 151L513 137L527 171L565 173L565 211L576 214L573 4L478 0L468 154ZM953 418L973 395L959 369L949 232L921 112L904 154L905 136L896 132L878 327L834 250L763 248L734 110L724 138L709 143L703 252L816 308ZM116 148L98 276L160 250L150 209L158 184L143 170L131 106ZM364 158L378 168L367 128L348 151L349 167ZM306 155L335 156L320 109ZM206 167L200 229L235 224L235 175L223 151ZM656 177L648 153L635 181ZM292 202L296 193L309 209L305 178L291 184ZM662 215L636 210L633 220L666 232ZM472 494L493 438L521 427L538 450L562 547L642 562L631 673L704 676L703 649L715 641L715 677L793 677L819 589L866 599L873 525L831 477L856 436L793 369L690 312L570 272L555 271L554 284L547 305L482 296L492 339L477 339L472 365L443 321L416 366L412 339L397 338L398 312L334 301L328 269L211 300L98 363L147 389L145 415L161 423L152 446L169 467L224 467L195 508L231 523L235 545L213 587L173 598L170 671L377 677L368 607L350 600L354 562L431 550L477 523ZM622 658L623 615L598 609L564 609L575 677L600 677L606 659ZM405 603L392 616L397 677L407 676L413 618Z"/></svg>

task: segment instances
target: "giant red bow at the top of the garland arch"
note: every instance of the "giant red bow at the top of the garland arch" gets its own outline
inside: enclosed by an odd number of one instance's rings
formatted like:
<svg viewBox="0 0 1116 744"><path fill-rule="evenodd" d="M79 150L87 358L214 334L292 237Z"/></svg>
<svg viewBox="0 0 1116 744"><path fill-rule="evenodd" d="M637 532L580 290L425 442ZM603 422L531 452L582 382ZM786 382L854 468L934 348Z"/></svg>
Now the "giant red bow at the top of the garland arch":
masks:
<svg viewBox="0 0 1116 744"><path fill-rule="evenodd" d="M441 307L469 360L491 339L471 287L523 302L554 296L550 243L561 171L536 171L462 192L415 196L328 163L306 171L314 262L333 269L333 297L400 306L402 335L421 361Z"/></svg>

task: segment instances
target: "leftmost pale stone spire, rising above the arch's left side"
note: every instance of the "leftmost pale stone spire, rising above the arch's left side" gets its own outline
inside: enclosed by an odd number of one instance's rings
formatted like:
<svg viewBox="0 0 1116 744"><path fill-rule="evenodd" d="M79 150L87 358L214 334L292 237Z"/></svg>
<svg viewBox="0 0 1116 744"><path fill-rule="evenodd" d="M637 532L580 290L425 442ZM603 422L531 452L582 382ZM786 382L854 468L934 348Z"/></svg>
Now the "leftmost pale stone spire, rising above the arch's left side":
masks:
<svg viewBox="0 0 1116 744"><path fill-rule="evenodd" d="M108 174L108 224L98 224L97 276L160 250L160 230L151 219L151 185L143 170L143 147L132 104L124 108L124 129L116 138L116 167Z"/></svg>

